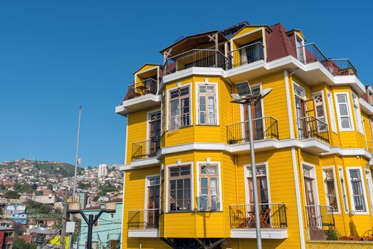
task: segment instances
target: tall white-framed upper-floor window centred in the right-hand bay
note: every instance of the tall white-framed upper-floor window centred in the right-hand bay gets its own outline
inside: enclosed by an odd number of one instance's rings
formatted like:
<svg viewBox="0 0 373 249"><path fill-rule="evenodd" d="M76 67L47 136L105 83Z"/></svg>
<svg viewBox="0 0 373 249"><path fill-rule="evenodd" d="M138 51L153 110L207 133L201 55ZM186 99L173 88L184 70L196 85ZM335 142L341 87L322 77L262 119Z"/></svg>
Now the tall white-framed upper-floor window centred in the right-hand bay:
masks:
<svg viewBox="0 0 373 249"><path fill-rule="evenodd" d="M341 131L352 131L354 129L351 120L350 101L347 96L347 93L335 94L337 99L337 115Z"/></svg>

